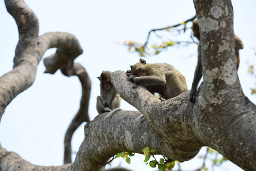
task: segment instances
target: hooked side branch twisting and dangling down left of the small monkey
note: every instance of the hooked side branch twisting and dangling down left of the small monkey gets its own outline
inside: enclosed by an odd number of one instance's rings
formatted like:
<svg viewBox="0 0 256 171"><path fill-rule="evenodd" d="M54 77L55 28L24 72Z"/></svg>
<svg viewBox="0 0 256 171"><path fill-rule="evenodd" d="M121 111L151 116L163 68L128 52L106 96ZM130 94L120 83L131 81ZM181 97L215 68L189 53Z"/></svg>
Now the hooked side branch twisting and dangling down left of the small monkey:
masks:
<svg viewBox="0 0 256 171"><path fill-rule="evenodd" d="M88 107L91 94L91 80L84 67L78 63L74 64L74 59L83 52L74 35L62 32L50 32L40 36L39 39L43 42L40 45L42 50L58 47L55 54L48 56L43 60L44 66L46 66L46 71L44 72L55 74L55 72L60 69L63 75L78 76L82 84L80 108L74 119L71 121L64 139L64 164L67 164L72 162L71 140L75 130L84 121L90 121Z"/></svg>

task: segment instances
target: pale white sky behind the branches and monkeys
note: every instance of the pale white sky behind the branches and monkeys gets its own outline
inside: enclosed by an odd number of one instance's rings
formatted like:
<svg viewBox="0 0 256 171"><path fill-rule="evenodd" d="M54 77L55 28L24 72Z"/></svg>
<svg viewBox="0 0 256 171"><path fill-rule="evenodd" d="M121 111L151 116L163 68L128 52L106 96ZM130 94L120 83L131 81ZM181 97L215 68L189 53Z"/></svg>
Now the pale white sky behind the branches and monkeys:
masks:
<svg viewBox="0 0 256 171"><path fill-rule="evenodd" d="M76 59L87 70L92 80L90 99L90 118L97 115L96 96L100 94L97 76L101 71L129 69L131 64L139 62L137 54L128 52L127 47L118 43L133 40L144 43L148 31L180 23L194 16L193 1L82 1L82 0L27 0L39 19L39 34L60 31L70 32L78 38L83 54ZM244 43L240 51L241 63L239 79L245 95L253 103L256 97L250 95L250 88L256 80L247 72L255 62L255 22L256 2L253 0L232 1L234 7L234 31ZM0 1L0 75L13 67L15 46L18 42L18 30L14 19L7 13L5 4ZM190 31L187 33L188 37ZM153 38L152 38L153 40ZM145 58L148 63L169 63L176 67L191 87L196 67L196 45L169 48L157 56ZM48 50L44 57L55 50ZM17 152L25 160L36 165L62 165L63 141L66 129L78 111L81 88L78 78L67 78L60 71L55 75L43 74L44 66L40 62L35 83L27 91L18 95L6 108L0 125L0 141L4 148ZM122 109L136 110L122 100ZM75 132L72 150L78 151L84 139L84 124ZM201 150L204 154L204 150ZM136 157L137 156L137 157ZM131 165L121 166L133 170L155 170L143 164L143 158L136 154ZM74 160L75 155L72 156ZM123 160L116 160L113 166ZM185 162L183 168L192 170L201 165L194 159ZM224 165L227 170L241 170L233 164ZM216 168L215 170L220 170Z"/></svg>

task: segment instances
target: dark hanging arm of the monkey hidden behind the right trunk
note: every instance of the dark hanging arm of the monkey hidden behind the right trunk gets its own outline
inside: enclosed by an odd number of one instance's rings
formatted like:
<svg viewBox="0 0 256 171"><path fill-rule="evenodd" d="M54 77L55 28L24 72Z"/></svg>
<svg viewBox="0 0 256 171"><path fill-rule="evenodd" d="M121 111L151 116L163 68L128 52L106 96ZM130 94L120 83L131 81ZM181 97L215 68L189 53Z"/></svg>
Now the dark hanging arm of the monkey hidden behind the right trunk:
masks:
<svg viewBox="0 0 256 171"><path fill-rule="evenodd" d="M189 101L191 103L194 103L194 101L196 100L197 86L202 78L201 43L198 43L197 51L198 51L197 66L196 66L196 70L194 71L194 79L193 79L192 88L190 90L190 95L189 95Z"/></svg>

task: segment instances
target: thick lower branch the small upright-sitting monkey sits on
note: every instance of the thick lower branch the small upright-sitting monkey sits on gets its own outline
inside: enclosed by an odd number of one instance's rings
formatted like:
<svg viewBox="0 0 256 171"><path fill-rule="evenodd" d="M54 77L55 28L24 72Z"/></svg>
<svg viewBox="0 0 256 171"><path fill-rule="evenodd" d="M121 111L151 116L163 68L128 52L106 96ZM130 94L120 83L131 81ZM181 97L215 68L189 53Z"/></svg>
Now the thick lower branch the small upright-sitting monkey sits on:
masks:
<svg viewBox="0 0 256 171"><path fill-rule="evenodd" d="M168 148L155 136L145 117L135 111L115 109L98 115L86 124L84 131L85 138L76 155L74 170L100 170L115 154L123 151L143 153L142 149L147 146L157 149L158 154L180 161L189 160L198 152L178 150L177 153L176 149Z"/></svg>

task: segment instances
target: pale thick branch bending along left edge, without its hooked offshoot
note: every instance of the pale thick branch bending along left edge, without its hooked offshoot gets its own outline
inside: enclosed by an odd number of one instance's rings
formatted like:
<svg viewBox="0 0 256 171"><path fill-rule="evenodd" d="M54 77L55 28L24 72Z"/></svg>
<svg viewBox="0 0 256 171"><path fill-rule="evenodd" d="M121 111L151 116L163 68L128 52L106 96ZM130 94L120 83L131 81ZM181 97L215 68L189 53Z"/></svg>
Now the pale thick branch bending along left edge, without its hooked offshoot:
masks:
<svg viewBox="0 0 256 171"><path fill-rule="evenodd" d="M22 0L6 0L5 4L18 25L19 42L15 50L14 69L0 78L0 120L11 100L34 82L40 59L34 51L39 27L35 14Z"/></svg>

